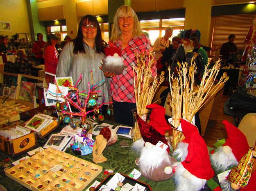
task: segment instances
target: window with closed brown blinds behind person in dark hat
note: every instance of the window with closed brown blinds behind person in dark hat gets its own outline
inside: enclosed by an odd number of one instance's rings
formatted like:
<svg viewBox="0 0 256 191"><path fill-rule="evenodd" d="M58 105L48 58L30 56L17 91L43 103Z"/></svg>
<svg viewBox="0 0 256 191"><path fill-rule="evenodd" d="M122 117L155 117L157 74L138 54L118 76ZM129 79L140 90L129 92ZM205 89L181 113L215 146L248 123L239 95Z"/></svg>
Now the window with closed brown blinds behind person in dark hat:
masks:
<svg viewBox="0 0 256 191"><path fill-rule="evenodd" d="M219 47L228 42L230 34L236 35L237 49L245 49L245 37L256 14L215 16L211 47ZM211 55L214 53L211 53Z"/></svg>

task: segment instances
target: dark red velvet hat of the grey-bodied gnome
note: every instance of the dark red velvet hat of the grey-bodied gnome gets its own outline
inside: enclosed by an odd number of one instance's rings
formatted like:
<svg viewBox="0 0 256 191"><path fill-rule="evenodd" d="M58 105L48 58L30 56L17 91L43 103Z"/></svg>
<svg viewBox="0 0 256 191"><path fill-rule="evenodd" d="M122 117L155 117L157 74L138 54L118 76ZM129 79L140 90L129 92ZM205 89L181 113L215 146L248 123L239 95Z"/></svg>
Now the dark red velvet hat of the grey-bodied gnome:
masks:
<svg viewBox="0 0 256 191"><path fill-rule="evenodd" d="M170 147L168 145L168 141L164 135L159 133L152 125L147 124L144 120L140 118L138 114L136 114L136 118L138 121L138 125L140 127L140 134L145 142L150 142L151 144L156 145L159 141L163 142L168 146L166 151L170 152Z"/></svg>

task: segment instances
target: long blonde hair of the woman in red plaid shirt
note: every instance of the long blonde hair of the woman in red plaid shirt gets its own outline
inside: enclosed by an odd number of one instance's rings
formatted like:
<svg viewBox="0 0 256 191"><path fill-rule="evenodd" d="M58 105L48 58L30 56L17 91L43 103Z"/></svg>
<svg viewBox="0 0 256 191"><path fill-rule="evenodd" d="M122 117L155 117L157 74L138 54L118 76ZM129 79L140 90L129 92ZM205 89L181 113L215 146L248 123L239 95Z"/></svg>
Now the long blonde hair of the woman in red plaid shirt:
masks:
<svg viewBox="0 0 256 191"><path fill-rule="evenodd" d="M121 30L118 26L118 18L119 16L128 16L131 14L132 18L134 18L134 28L132 31L132 36L133 37L139 37L143 34L142 29L140 28L140 23L138 21L138 17L136 13L134 12L133 9L131 9L130 6L128 5L122 5L121 7L118 8L116 11L115 17L114 17L114 24L113 24L113 29L111 31L111 38L110 40L112 42L116 42L118 39L121 38Z"/></svg>

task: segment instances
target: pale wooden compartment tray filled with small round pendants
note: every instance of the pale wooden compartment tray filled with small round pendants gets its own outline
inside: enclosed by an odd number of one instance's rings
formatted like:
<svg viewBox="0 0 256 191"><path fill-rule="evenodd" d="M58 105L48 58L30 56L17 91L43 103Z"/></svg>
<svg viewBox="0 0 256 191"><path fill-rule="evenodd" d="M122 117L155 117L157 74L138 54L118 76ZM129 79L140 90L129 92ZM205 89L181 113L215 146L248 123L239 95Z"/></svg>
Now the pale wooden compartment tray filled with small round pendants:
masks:
<svg viewBox="0 0 256 191"><path fill-rule="evenodd" d="M63 167L51 171L57 164ZM33 191L82 191L101 172L102 167L97 164L48 147L11 167L5 174Z"/></svg>

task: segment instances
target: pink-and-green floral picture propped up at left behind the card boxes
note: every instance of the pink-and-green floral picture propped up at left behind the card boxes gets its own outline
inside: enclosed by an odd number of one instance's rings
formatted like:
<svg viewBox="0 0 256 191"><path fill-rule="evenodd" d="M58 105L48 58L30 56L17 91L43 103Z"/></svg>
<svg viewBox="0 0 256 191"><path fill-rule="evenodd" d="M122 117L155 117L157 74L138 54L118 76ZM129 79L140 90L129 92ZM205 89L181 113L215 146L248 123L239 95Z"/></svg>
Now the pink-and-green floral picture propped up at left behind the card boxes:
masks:
<svg viewBox="0 0 256 191"><path fill-rule="evenodd" d="M34 96L36 94L36 84L31 82L20 82L20 94L19 99L25 100L28 102L33 102Z"/></svg>

